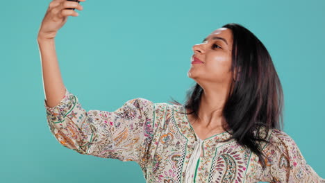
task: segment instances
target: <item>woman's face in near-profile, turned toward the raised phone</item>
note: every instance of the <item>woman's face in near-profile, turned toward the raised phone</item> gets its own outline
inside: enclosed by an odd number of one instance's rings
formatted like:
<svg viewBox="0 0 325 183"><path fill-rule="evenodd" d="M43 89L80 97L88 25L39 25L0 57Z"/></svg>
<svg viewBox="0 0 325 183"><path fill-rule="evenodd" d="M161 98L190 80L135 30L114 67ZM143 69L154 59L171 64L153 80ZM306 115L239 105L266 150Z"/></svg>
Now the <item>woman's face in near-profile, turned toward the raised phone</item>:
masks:
<svg viewBox="0 0 325 183"><path fill-rule="evenodd" d="M194 55L191 62L196 60L194 58L197 58L202 63L191 63L188 77L197 81L201 87L204 84L211 83L228 85L233 79L231 73L232 47L233 35L231 29L218 28L214 30L203 43L195 44L192 47Z"/></svg>

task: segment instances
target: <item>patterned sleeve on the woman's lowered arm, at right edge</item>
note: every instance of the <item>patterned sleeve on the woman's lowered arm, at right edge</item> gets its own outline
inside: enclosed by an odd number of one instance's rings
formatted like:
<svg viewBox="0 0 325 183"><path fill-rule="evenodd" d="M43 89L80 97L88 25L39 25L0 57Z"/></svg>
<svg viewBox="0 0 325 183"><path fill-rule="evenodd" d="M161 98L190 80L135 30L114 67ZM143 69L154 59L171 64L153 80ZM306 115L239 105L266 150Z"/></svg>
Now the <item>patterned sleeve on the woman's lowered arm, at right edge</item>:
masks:
<svg viewBox="0 0 325 183"><path fill-rule="evenodd" d="M306 159L294 140L281 130L272 130L270 141L264 149L267 167L263 171L263 182L325 182Z"/></svg>

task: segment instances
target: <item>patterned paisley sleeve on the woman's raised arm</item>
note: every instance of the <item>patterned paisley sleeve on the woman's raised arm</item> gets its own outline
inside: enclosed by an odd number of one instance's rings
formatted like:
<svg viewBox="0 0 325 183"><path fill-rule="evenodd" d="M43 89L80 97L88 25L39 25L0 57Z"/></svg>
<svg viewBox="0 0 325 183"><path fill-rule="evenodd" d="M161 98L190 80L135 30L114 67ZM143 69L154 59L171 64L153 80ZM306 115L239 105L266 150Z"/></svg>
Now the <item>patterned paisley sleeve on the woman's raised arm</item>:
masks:
<svg viewBox="0 0 325 183"><path fill-rule="evenodd" d="M86 111L67 89L54 107L44 106L54 137L63 146L83 155L147 163L153 137L153 103L134 98L114 112Z"/></svg>

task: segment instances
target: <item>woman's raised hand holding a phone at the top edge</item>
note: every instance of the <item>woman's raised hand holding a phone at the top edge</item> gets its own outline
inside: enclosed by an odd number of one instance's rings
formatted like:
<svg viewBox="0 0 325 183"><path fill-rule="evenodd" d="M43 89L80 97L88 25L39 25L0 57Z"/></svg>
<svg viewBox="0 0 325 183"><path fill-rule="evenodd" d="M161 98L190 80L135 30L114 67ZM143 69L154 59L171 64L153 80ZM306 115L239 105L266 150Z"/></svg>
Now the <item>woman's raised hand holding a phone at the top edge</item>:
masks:
<svg viewBox="0 0 325 183"><path fill-rule="evenodd" d="M86 1L86 0L79 0ZM83 10L78 2L67 0L53 0L49 3L49 8L42 20L42 24L38 31L38 38L53 39L56 37L58 30L63 27L67 22L68 16L78 16L78 13L74 10L68 10L67 8L76 8L77 10Z"/></svg>

